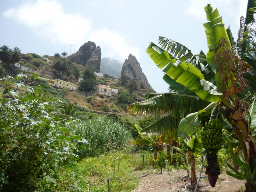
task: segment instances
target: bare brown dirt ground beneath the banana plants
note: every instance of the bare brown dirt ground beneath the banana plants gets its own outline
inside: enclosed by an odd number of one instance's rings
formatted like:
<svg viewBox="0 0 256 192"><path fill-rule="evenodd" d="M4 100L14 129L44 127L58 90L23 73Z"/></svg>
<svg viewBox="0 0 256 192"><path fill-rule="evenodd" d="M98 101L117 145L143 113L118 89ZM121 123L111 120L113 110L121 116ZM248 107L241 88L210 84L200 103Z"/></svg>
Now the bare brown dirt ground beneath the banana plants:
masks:
<svg viewBox="0 0 256 192"><path fill-rule="evenodd" d="M139 186L134 192L194 192L189 189L190 182L185 183L178 172L151 174L140 179ZM242 192L245 189L243 180L237 180L226 174L219 175L214 188L209 185L207 177L202 178L199 185L201 188L198 192Z"/></svg>

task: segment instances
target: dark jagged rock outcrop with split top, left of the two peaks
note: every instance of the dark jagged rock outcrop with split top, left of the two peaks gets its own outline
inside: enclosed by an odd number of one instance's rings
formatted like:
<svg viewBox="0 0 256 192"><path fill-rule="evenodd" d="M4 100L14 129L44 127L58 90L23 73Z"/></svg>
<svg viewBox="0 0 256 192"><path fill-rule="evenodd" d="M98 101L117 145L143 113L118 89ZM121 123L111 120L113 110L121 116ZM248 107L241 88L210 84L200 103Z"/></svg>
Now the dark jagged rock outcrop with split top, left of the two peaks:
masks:
<svg viewBox="0 0 256 192"><path fill-rule="evenodd" d="M96 73L100 72L101 49L99 46L96 47L94 42L88 41L67 58L76 64L84 64L84 67L93 68Z"/></svg>

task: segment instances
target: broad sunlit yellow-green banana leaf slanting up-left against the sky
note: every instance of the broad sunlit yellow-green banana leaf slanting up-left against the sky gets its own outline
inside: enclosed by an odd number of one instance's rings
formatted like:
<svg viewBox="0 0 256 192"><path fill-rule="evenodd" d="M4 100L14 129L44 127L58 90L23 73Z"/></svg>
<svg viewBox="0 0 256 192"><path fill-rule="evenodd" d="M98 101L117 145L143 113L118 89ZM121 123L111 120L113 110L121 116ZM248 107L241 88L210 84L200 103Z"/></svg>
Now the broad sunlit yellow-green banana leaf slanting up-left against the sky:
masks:
<svg viewBox="0 0 256 192"><path fill-rule="evenodd" d="M201 99L209 102L218 102L219 93L215 85L204 79L204 75L191 63L185 61L178 66L174 66L175 58L167 51L151 43L147 49L149 57L160 69L164 70L171 79L183 85L187 89L194 91Z"/></svg>

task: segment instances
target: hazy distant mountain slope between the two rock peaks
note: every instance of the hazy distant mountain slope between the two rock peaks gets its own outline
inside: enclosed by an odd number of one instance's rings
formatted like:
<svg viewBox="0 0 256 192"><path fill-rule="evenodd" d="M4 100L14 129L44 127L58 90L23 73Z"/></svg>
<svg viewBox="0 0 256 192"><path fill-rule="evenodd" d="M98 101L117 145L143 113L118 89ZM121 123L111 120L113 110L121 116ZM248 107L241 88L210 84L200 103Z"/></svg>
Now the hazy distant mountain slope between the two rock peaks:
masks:
<svg viewBox="0 0 256 192"><path fill-rule="evenodd" d="M104 75L107 73L108 75L119 77L122 71L123 61L117 61L112 58L102 58L100 63L100 73Z"/></svg>

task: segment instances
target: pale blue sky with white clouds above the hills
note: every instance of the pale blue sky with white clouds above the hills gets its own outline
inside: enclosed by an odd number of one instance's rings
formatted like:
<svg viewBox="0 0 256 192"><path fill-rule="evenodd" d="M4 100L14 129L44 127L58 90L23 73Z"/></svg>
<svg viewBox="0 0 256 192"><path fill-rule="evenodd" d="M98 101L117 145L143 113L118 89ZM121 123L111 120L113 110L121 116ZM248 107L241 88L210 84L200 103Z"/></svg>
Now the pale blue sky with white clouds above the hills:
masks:
<svg viewBox="0 0 256 192"><path fill-rule="evenodd" d="M22 53L70 54L87 41L102 50L102 58L125 61L136 56L157 93L168 92L163 72L145 50L164 36L207 52L204 6L218 8L226 28L237 38L239 18L247 0L0 0L0 46Z"/></svg>

